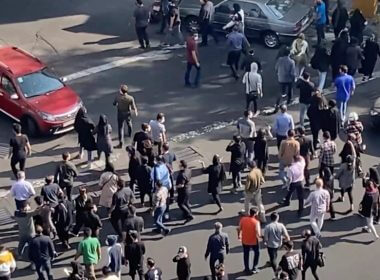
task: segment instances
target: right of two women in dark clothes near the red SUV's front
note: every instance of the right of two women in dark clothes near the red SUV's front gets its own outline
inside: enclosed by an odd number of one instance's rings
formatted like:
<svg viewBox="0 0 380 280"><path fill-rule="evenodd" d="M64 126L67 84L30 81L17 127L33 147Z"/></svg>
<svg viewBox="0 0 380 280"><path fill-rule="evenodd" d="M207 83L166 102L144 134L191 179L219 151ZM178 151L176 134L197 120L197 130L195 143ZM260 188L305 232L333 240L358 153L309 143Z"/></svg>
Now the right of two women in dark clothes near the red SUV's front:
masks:
<svg viewBox="0 0 380 280"><path fill-rule="evenodd" d="M108 123L106 115L100 115L98 125L95 129L95 133L97 134L98 157L100 158L103 152L106 157L107 165L107 163L109 163L109 157L112 153L112 127Z"/></svg>

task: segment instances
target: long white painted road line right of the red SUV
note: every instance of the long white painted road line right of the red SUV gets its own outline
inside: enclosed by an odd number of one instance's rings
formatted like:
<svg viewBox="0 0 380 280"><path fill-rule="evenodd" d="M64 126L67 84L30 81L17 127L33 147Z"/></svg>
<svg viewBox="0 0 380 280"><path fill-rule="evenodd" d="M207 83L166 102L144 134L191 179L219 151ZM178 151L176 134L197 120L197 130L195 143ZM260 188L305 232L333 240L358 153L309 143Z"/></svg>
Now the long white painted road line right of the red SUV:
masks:
<svg viewBox="0 0 380 280"><path fill-rule="evenodd" d="M73 81L80 78L84 78L93 74L97 74L99 72L107 71L116 67L120 67L126 64L142 61L142 60L166 60L169 59L170 51L169 50L157 50L150 51L143 54L122 58L119 60L115 60L106 64L102 64L99 66L91 67L67 76L62 77L64 81Z"/></svg>

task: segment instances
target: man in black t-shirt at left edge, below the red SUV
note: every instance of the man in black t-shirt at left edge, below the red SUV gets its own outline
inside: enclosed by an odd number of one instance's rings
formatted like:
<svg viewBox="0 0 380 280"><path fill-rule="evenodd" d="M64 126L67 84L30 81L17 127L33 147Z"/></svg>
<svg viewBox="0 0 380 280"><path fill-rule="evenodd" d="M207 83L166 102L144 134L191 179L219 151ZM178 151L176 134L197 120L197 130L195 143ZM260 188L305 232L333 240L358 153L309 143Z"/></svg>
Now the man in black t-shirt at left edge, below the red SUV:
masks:
<svg viewBox="0 0 380 280"><path fill-rule="evenodd" d="M12 125L14 136L9 141L9 155L11 159L11 168L13 175L17 178L18 169L16 165L19 165L21 171L25 171L25 163L27 156L32 155L32 148L28 136L21 133L21 125L14 123Z"/></svg>

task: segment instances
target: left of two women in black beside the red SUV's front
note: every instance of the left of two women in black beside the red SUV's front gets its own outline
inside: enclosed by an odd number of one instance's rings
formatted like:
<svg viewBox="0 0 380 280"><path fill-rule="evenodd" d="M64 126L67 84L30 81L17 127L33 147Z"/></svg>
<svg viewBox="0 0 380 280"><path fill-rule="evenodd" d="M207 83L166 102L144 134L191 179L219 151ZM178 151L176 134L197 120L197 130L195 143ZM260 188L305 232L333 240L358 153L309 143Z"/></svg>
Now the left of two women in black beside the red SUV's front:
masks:
<svg viewBox="0 0 380 280"><path fill-rule="evenodd" d="M83 149L87 151L88 163L92 161L92 151L97 150L94 129L95 124L91 118L87 115L87 111L84 107L78 110L75 117L74 129L78 133L79 143L79 158L83 156Z"/></svg>

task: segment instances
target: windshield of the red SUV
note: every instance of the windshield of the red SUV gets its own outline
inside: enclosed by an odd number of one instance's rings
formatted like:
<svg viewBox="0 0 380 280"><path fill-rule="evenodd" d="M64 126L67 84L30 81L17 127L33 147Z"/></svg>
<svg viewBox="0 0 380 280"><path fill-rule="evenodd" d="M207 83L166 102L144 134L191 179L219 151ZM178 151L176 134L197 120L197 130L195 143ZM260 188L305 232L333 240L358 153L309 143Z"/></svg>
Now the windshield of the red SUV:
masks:
<svg viewBox="0 0 380 280"><path fill-rule="evenodd" d="M63 88L63 83L47 68L18 77L17 81L26 98L39 96Z"/></svg>

